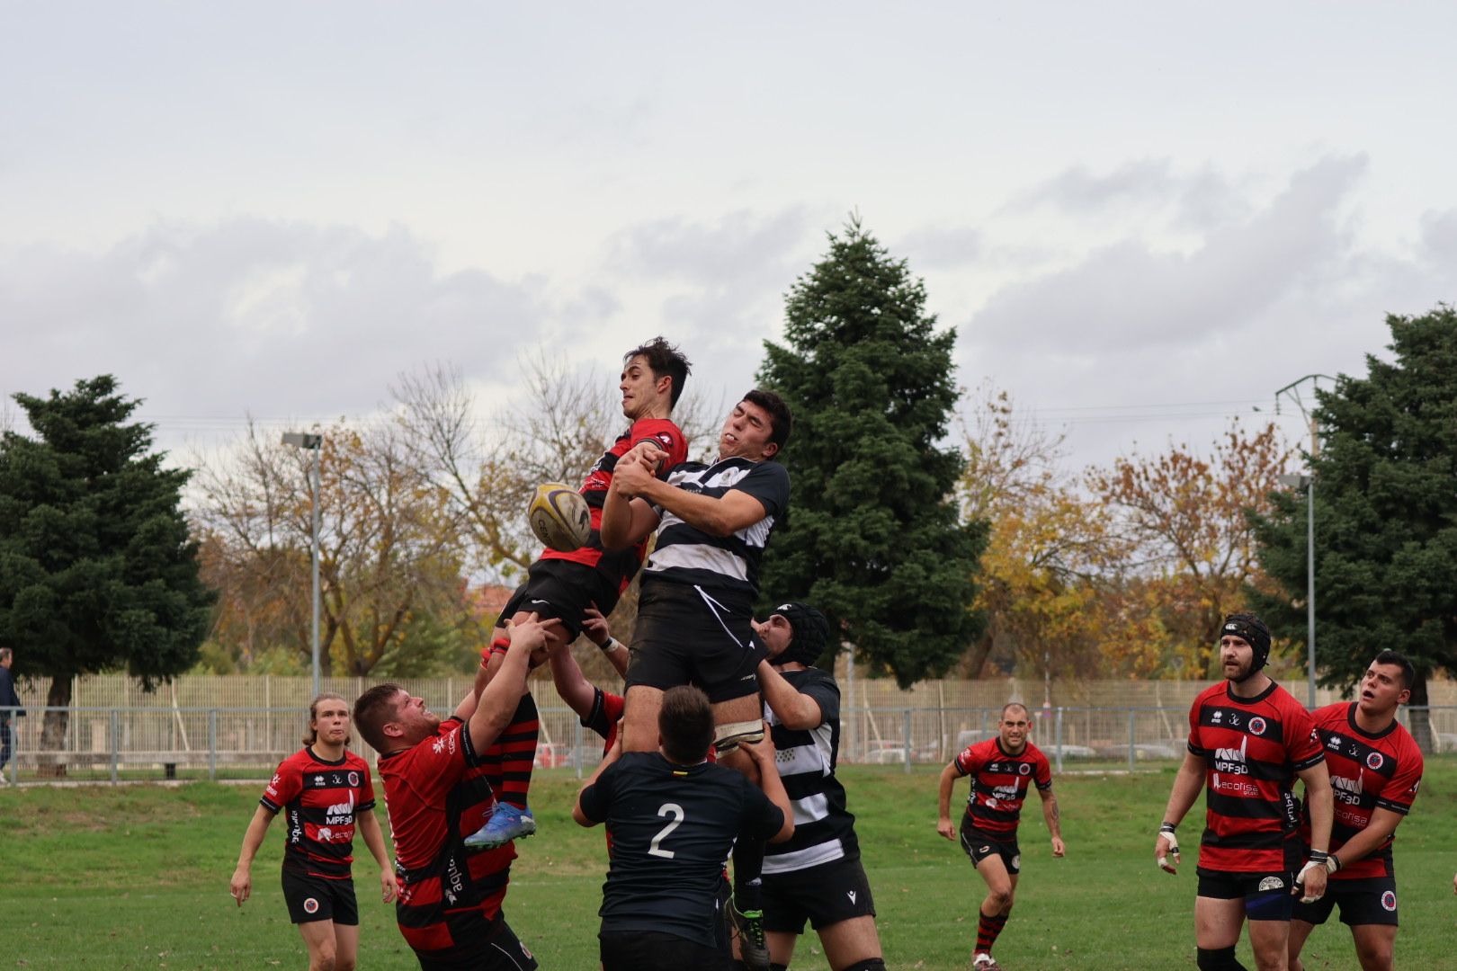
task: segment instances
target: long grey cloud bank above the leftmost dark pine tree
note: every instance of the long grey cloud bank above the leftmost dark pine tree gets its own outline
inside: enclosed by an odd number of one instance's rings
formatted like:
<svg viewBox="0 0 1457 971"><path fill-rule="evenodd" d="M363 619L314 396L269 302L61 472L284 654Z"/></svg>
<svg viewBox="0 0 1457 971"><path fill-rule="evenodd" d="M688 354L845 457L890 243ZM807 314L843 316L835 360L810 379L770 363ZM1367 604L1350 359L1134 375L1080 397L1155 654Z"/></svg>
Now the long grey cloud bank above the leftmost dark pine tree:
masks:
<svg viewBox="0 0 1457 971"><path fill-rule="evenodd" d="M398 227L154 226L98 253L0 250L0 387L112 373L149 415L356 413L423 361L487 373L552 316L530 287L441 274Z"/></svg>

